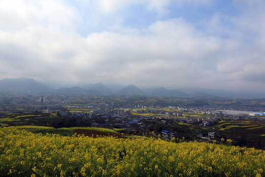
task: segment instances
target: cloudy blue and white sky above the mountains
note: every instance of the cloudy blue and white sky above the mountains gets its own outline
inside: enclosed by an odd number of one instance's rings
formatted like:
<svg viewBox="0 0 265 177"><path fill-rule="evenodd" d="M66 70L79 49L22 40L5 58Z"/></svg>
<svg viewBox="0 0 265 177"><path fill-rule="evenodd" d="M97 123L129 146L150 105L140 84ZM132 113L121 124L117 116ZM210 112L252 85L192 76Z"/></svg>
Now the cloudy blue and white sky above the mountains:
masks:
<svg viewBox="0 0 265 177"><path fill-rule="evenodd" d="M265 0L0 4L0 79L55 88L265 88Z"/></svg>

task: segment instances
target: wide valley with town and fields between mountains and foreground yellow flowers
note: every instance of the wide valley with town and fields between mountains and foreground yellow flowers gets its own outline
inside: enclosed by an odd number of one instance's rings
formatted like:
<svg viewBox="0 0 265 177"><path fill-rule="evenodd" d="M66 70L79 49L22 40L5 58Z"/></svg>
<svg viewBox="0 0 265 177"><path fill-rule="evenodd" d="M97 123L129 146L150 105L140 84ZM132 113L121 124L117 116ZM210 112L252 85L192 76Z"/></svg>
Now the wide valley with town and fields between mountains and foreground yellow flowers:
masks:
<svg viewBox="0 0 265 177"><path fill-rule="evenodd" d="M140 95L2 94L0 125L102 127L129 135L160 136L166 141L184 137L185 141L222 143L230 139L236 146L264 148L265 107L253 102Z"/></svg>

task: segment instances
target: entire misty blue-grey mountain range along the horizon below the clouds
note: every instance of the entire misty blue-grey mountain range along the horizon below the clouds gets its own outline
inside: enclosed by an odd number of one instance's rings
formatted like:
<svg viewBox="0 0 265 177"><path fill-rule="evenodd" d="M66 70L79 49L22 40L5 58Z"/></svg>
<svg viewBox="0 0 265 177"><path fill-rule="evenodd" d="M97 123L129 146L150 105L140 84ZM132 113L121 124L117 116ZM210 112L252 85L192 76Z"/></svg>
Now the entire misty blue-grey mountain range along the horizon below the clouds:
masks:
<svg viewBox="0 0 265 177"><path fill-rule="evenodd" d="M111 88L111 89L110 89ZM133 84L129 86L111 85L110 88L102 83L86 85L83 87L54 89L29 78L2 79L0 80L0 92L9 94L88 94L88 95L153 95L166 97L228 97L228 98L262 98L265 93L252 91L229 91L225 89L173 89L168 90L163 87L153 87L149 89L139 89Z"/></svg>

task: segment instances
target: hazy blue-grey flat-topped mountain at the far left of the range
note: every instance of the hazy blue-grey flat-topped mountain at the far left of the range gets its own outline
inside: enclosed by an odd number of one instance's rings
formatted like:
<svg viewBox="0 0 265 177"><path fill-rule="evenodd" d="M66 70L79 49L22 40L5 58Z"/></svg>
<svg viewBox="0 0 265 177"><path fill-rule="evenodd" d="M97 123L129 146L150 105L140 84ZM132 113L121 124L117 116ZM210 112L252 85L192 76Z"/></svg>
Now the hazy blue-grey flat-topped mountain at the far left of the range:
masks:
<svg viewBox="0 0 265 177"><path fill-rule="evenodd" d="M0 80L0 91L16 94L32 94L40 92L51 92L54 89L44 84L37 83L34 79L15 78Z"/></svg>

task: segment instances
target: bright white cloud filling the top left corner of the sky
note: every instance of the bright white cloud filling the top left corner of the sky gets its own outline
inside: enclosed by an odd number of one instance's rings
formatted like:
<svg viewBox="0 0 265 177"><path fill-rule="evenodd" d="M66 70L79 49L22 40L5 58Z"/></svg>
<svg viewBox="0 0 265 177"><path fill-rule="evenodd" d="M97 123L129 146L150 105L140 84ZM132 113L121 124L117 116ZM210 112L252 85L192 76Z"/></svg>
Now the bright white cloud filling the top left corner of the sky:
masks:
<svg viewBox="0 0 265 177"><path fill-rule="evenodd" d="M78 22L78 10L60 0L1 0L0 27L3 29L23 30L32 26L42 26L73 30Z"/></svg>

